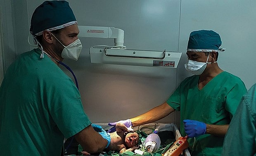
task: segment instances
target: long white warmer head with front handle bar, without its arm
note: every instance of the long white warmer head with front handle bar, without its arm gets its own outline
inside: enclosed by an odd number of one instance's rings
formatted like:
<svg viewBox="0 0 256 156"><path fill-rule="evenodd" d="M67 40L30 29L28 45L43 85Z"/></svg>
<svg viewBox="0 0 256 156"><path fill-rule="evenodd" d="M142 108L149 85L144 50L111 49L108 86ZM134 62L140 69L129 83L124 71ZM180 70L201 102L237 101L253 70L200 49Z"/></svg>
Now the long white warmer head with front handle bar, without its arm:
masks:
<svg viewBox="0 0 256 156"><path fill-rule="evenodd" d="M177 68L180 52L90 48L91 63Z"/></svg>

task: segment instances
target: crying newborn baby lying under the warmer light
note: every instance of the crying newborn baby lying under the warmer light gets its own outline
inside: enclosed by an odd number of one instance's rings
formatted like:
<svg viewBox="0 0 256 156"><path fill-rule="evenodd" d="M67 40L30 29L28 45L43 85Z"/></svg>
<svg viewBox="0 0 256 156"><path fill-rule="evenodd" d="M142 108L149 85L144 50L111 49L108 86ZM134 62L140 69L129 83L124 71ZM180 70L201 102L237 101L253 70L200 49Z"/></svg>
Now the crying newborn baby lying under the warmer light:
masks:
<svg viewBox="0 0 256 156"><path fill-rule="evenodd" d="M139 135L133 130L130 131L123 123L116 124L116 131L110 133L111 141L107 151L119 151L123 153L125 151L133 151L138 149ZM90 155L86 151L82 151L83 155Z"/></svg>

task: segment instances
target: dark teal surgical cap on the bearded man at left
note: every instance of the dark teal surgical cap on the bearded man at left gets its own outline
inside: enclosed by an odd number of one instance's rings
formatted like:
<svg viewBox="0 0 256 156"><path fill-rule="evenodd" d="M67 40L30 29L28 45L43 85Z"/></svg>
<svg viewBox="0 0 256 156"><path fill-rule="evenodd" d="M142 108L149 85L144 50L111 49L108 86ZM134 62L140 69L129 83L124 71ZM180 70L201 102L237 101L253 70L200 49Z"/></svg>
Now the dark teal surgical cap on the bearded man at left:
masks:
<svg viewBox="0 0 256 156"><path fill-rule="evenodd" d="M30 33L41 35L43 30L57 30L77 24L69 2L64 0L45 1L39 5L31 18Z"/></svg>

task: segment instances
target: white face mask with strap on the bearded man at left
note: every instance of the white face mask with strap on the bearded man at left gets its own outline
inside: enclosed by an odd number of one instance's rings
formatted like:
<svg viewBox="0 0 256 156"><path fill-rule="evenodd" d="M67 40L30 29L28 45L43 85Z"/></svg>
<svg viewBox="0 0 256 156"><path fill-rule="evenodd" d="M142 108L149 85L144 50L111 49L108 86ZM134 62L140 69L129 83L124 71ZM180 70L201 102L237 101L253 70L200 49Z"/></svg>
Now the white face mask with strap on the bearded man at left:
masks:
<svg viewBox="0 0 256 156"><path fill-rule="evenodd" d="M56 38L56 40L59 41L57 38ZM60 42L60 41L59 41L59 43L62 44L62 42ZM68 59L75 60L75 61L78 60L78 57L79 57L82 47L83 47L81 44L81 41L79 39L75 40L74 42L72 42L71 44L69 44L67 46L64 46L63 44L62 44L62 46L64 47L64 49L62 50L62 58L68 58Z"/></svg>

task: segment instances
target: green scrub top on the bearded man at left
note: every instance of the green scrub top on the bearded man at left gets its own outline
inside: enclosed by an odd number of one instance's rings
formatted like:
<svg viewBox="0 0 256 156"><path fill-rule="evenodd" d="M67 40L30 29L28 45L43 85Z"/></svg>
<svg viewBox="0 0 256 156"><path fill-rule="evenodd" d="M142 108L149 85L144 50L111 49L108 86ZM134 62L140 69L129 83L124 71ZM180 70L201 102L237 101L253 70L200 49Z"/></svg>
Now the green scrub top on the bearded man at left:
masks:
<svg viewBox="0 0 256 156"><path fill-rule="evenodd" d="M21 54L0 87L0 155L59 156L91 124L76 85L39 49Z"/></svg>

